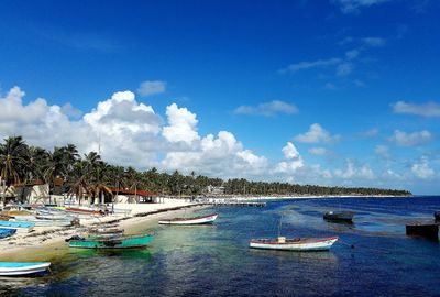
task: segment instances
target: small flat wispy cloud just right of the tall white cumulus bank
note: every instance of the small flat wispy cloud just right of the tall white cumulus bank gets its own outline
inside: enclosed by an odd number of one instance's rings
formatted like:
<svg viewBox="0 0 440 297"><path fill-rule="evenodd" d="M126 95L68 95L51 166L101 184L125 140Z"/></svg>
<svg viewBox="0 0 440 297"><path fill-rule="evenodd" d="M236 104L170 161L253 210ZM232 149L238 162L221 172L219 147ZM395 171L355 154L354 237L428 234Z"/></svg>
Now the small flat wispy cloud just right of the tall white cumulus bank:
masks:
<svg viewBox="0 0 440 297"><path fill-rule="evenodd" d="M273 117L277 113L293 114L298 112L298 108L295 105L287 103L280 100L274 100L271 102L261 103L256 107L252 106L240 106L234 111L237 114L254 114Z"/></svg>

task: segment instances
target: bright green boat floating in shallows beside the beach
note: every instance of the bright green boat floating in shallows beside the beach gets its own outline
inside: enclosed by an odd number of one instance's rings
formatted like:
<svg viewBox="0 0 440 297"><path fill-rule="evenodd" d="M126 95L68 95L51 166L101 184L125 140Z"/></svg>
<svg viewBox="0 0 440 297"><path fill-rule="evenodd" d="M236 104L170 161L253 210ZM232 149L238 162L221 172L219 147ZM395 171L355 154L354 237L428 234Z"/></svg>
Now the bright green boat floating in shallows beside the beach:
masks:
<svg viewBox="0 0 440 297"><path fill-rule="evenodd" d="M152 234L117 237L117 238L89 238L81 240L72 240L70 248L79 249L144 249L153 240Z"/></svg>

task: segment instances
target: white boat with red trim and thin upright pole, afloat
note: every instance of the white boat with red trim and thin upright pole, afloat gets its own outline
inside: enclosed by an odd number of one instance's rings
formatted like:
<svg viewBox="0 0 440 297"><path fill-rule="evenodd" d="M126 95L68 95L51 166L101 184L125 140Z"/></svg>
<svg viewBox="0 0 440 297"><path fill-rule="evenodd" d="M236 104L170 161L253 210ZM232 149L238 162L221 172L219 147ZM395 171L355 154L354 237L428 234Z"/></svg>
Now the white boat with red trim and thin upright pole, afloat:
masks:
<svg viewBox="0 0 440 297"><path fill-rule="evenodd" d="M285 237L278 237L276 239L253 239L250 242L250 248L298 252L327 251L337 241L338 237L296 239L286 239Z"/></svg>

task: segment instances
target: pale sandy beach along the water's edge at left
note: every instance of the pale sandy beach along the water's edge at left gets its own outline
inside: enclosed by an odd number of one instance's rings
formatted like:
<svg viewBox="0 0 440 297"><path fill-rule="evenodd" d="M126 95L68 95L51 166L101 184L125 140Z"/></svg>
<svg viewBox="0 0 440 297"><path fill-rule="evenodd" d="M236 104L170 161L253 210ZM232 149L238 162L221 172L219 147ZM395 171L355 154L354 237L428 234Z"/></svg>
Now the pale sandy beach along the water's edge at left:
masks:
<svg viewBox="0 0 440 297"><path fill-rule="evenodd" d="M85 231L87 227L117 222L128 234L141 230L143 226L154 224L160 218L178 216L186 208L201 208L201 205L177 199L167 199L163 204L123 205L117 208L130 209L131 213L110 215L99 218L81 219L79 228L35 227L30 233L15 234L0 240L0 261L31 261L47 258L65 250L65 239ZM135 232L134 232L135 233Z"/></svg>

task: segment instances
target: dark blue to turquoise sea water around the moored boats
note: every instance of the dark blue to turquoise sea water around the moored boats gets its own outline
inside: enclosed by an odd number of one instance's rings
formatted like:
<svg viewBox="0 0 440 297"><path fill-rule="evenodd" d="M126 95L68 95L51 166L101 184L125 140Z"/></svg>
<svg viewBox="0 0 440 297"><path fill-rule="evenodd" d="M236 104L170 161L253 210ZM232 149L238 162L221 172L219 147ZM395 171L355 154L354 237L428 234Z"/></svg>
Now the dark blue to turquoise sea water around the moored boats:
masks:
<svg viewBox="0 0 440 297"><path fill-rule="evenodd" d="M354 224L322 220L355 211ZM405 222L432 220L439 197L301 199L265 208L219 207L212 226L145 228L144 251L68 250L53 273L1 278L1 296L439 296L440 244L405 235ZM250 250L252 238L339 235L329 252Z"/></svg>

